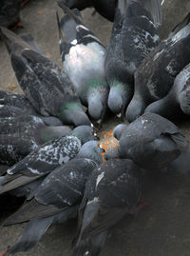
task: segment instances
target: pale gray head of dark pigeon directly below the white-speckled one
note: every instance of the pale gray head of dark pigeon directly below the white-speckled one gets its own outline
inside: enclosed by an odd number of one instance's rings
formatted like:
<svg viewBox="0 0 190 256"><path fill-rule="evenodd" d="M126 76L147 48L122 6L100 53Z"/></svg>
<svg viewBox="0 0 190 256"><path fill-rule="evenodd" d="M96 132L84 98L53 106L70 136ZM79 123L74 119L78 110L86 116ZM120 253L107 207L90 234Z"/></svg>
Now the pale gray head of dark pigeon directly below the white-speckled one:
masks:
<svg viewBox="0 0 190 256"><path fill-rule="evenodd" d="M104 149L99 146L97 141L89 141L82 146L77 154L77 158L88 158L96 162L97 165L100 165L103 163L103 151Z"/></svg>

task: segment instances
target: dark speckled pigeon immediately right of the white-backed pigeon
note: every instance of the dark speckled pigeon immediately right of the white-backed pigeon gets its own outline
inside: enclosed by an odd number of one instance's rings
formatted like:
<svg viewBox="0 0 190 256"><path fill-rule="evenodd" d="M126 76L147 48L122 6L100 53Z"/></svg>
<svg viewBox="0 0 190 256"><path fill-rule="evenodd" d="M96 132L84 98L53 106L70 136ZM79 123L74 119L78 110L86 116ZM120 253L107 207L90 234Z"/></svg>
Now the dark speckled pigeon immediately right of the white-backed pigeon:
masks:
<svg viewBox="0 0 190 256"><path fill-rule="evenodd" d="M105 58L108 108L119 117L134 92L134 73L160 43L161 0L119 0Z"/></svg>

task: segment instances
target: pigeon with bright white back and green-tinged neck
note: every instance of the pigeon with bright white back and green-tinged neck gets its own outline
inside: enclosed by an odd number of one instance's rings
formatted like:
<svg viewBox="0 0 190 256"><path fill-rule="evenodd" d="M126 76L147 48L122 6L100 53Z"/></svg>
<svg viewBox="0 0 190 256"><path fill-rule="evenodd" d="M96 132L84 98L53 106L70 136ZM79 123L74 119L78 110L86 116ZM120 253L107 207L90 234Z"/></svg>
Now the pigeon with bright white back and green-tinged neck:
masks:
<svg viewBox="0 0 190 256"><path fill-rule="evenodd" d="M79 10L69 10L58 0L66 15L58 27L60 51L67 76L77 89L89 115L101 125L104 119L108 85L104 73L105 49L99 39L88 30ZM66 36L64 41L62 31Z"/></svg>

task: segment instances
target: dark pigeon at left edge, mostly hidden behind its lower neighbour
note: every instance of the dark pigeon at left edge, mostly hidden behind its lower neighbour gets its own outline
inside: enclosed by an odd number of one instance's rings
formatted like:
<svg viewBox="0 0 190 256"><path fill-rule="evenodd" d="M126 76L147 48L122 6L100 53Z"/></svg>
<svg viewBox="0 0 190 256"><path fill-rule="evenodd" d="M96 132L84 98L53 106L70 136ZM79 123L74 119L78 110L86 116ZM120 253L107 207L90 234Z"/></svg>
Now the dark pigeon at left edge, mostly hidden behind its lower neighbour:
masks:
<svg viewBox="0 0 190 256"><path fill-rule="evenodd" d="M28 34L30 36L30 34ZM27 35L26 35L27 36ZM39 116L43 119L47 126L62 126L63 123L57 117L54 116L42 116L36 112L35 108L29 103L27 97L23 94L15 94L9 91L0 90L0 105L7 106L7 116L31 114ZM10 107L10 109L9 109ZM15 110L13 110L14 107ZM2 108L0 110L0 117L3 117ZM5 111L6 114L6 111Z"/></svg>

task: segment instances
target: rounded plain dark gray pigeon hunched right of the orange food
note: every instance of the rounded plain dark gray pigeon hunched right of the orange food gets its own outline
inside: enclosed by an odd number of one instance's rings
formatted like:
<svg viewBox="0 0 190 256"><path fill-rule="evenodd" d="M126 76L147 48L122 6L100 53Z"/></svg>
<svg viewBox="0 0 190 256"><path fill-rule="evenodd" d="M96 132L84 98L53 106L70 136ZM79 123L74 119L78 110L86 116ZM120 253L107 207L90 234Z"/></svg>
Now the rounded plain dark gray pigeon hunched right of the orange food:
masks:
<svg viewBox="0 0 190 256"><path fill-rule="evenodd" d="M172 122L155 113L144 113L123 129L118 155L144 169L161 170L186 147L185 137Z"/></svg>

